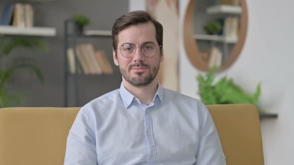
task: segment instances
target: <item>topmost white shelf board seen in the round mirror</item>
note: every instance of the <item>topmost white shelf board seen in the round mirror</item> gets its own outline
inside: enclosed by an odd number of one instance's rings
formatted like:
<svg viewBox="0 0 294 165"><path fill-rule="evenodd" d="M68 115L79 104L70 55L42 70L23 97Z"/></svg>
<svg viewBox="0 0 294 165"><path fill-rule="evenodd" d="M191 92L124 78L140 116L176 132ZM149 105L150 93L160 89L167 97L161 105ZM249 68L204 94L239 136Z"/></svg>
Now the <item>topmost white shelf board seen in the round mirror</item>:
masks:
<svg viewBox="0 0 294 165"><path fill-rule="evenodd" d="M241 6L237 5L226 5L226 4L220 4L220 5L214 5L206 8L207 14L241 14L242 8Z"/></svg>

